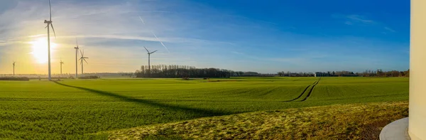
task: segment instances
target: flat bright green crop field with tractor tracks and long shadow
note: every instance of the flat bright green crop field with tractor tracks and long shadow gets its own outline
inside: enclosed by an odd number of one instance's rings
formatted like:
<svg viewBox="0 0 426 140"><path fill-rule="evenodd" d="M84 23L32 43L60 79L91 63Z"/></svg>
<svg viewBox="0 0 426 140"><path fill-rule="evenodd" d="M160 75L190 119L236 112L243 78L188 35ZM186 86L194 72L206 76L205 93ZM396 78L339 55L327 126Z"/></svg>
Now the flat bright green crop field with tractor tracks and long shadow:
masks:
<svg viewBox="0 0 426 140"><path fill-rule="evenodd" d="M201 117L406 100L405 77L0 81L0 139L92 139Z"/></svg>

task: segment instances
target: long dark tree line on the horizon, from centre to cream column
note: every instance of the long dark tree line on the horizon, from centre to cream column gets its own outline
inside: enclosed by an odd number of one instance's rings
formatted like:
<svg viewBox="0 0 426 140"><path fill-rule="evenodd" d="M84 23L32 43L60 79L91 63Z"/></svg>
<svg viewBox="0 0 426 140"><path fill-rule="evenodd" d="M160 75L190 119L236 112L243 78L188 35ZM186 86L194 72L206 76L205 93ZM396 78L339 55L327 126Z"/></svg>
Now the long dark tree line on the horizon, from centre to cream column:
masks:
<svg viewBox="0 0 426 140"><path fill-rule="evenodd" d="M136 77L409 77L410 70L383 71L366 70L364 72L351 71L327 71L327 72L277 72L275 74L263 74L259 72L233 71L219 68L195 68L188 65L142 65L140 70L134 73Z"/></svg>

